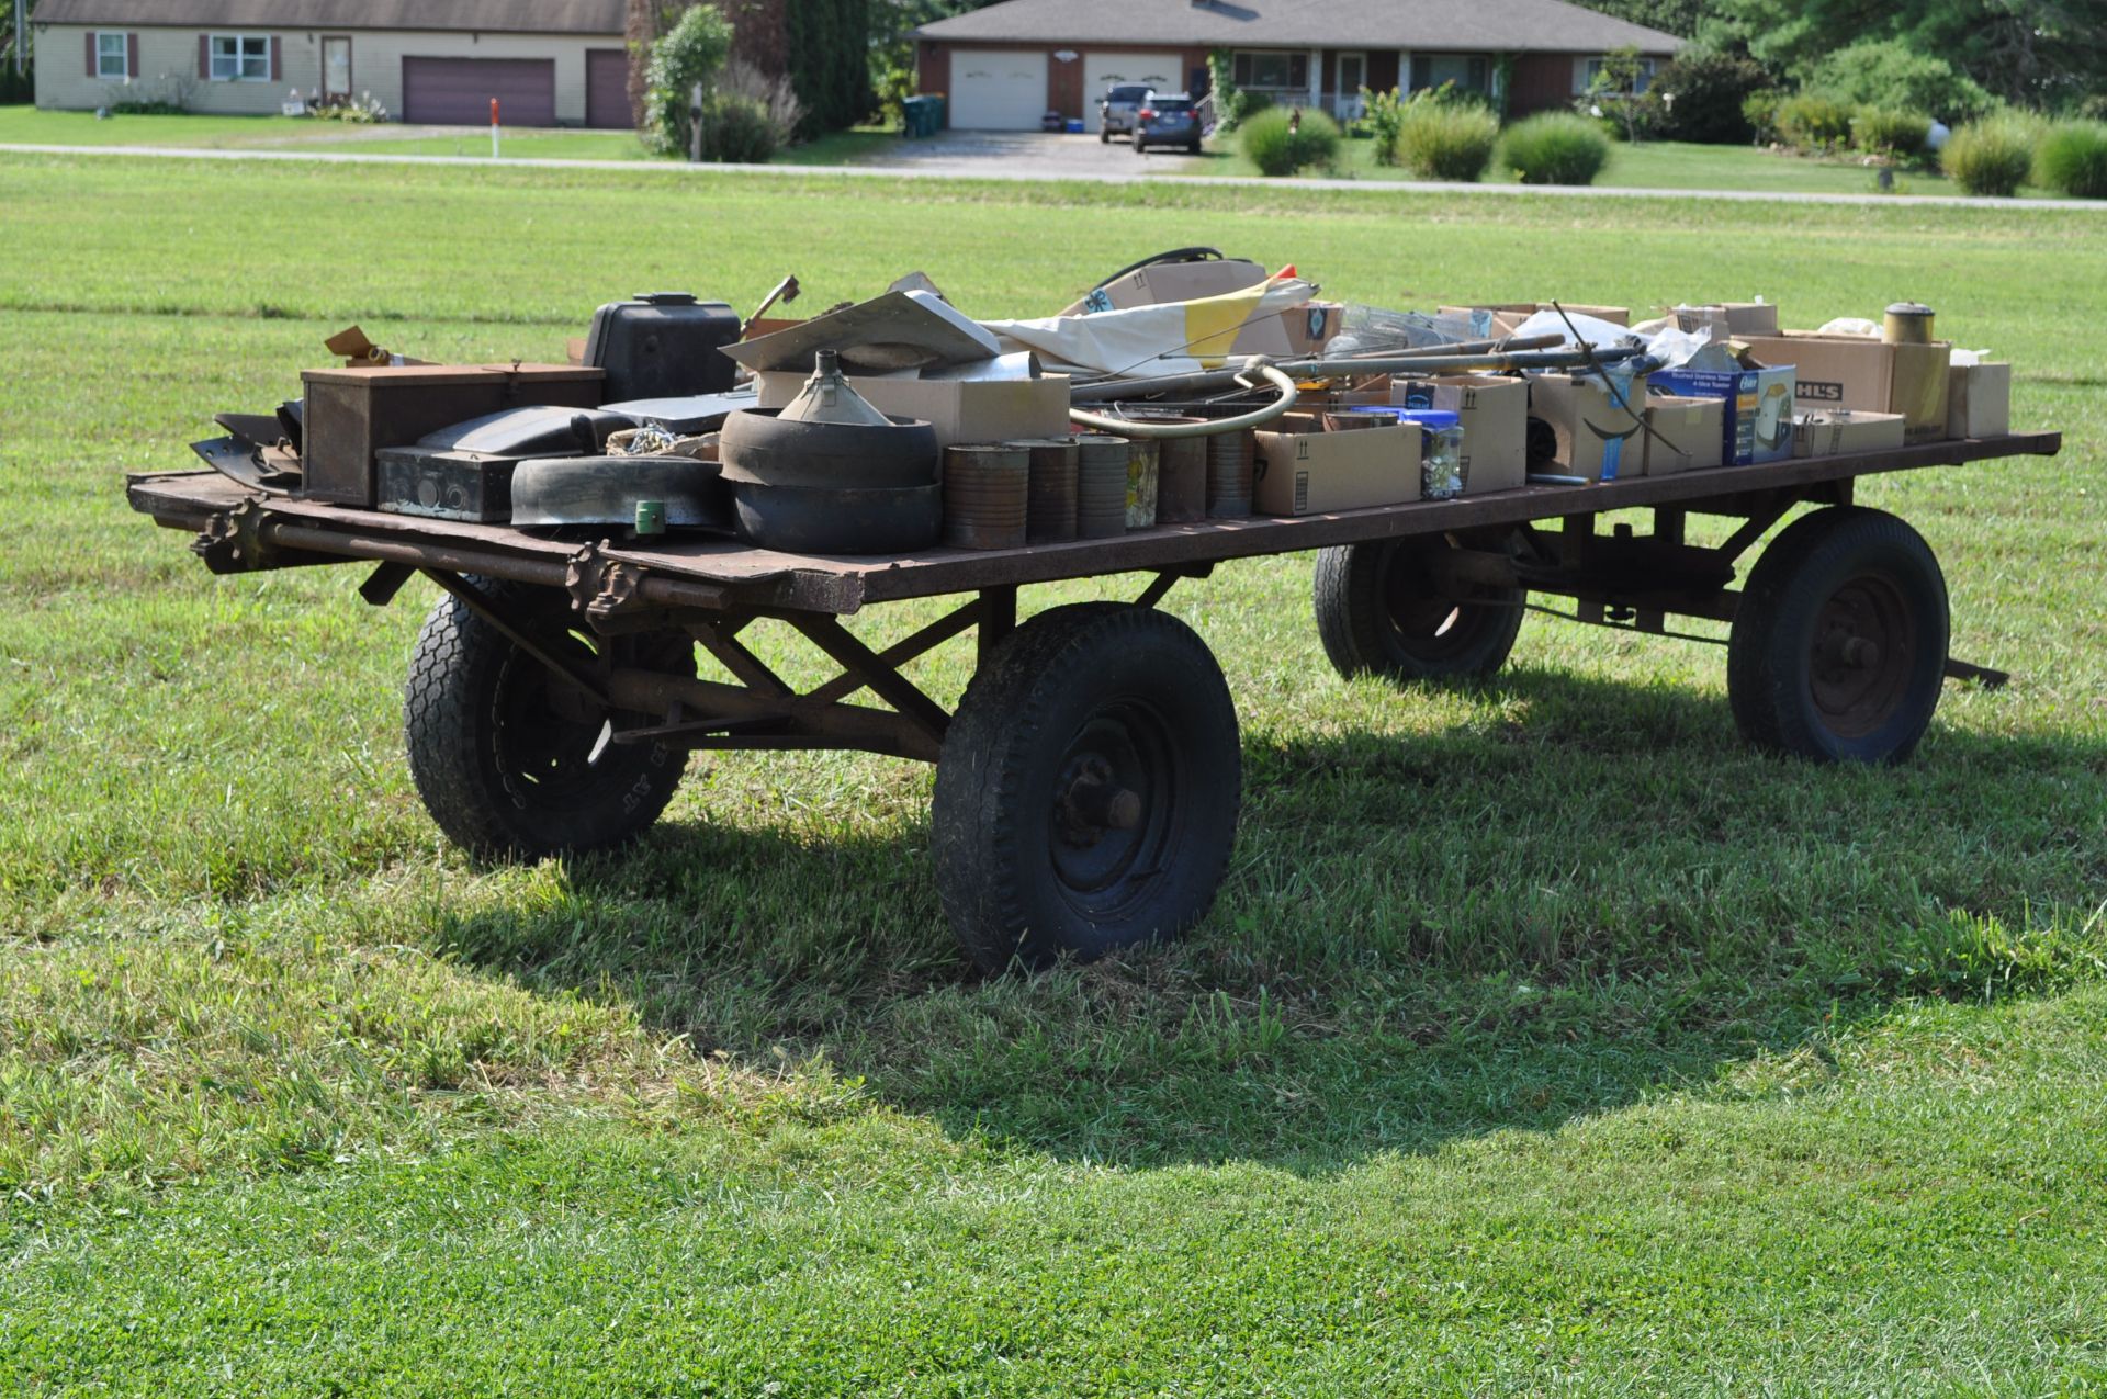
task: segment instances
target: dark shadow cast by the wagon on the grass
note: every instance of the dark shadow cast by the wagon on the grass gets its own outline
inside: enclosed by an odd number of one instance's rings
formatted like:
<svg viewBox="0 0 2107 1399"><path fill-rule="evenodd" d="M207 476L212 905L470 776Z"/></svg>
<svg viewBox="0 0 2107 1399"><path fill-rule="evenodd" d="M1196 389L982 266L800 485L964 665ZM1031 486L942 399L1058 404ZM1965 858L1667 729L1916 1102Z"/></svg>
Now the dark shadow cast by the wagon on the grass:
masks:
<svg viewBox="0 0 2107 1399"><path fill-rule="evenodd" d="M1753 1091L1839 1020L2044 986L2099 940L2107 767L2075 744L1936 731L1907 767L1820 769L1747 754L1711 695L1517 672L1443 731L1243 758L1214 914L1115 963L973 976L921 826L668 824L558 906L440 935L704 1051L824 1053L959 1136L1306 1171Z"/></svg>

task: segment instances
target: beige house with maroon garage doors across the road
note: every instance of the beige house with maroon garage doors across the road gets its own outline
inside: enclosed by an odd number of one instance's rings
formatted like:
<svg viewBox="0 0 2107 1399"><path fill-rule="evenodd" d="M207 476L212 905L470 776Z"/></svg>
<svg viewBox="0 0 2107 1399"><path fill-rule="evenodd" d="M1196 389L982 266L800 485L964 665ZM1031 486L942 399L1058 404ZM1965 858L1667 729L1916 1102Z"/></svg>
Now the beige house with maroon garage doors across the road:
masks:
<svg viewBox="0 0 2107 1399"><path fill-rule="evenodd" d="M278 112L371 93L407 122L630 126L626 0L42 0L36 105L133 93Z"/></svg>

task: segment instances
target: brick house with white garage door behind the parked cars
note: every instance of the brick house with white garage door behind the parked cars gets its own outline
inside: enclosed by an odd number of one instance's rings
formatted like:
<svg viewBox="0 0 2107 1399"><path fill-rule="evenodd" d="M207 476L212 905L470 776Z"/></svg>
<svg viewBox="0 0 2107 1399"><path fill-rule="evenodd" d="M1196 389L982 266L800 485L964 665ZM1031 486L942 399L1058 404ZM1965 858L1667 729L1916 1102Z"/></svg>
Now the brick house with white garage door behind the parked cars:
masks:
<svg viewBox="0 0 2107 1399"><path fill-rule="evenodd" d="M1454 82L1519 116L1568 105L1612 48L1681 46L1561 0L1007 0L914 34L919 86L963 131L1037 131L1047 112L1096 131L1106 86L1205 91L1214 48L1277 103L1351 116L1363 86Z"/></svg>

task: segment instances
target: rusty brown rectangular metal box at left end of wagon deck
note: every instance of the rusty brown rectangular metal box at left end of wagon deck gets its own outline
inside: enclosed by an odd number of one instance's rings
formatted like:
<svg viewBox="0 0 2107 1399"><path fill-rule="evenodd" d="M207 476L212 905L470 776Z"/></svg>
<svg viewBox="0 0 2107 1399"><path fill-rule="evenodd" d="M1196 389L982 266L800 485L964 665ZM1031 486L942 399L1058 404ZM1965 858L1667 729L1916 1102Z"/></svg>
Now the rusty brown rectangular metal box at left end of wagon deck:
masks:
<svg viewBox="0 0 2107 1399"><path fill-rule="evenodd" d="M605 373L577 364L373 364L310 369L301 432L301 497L375 501L375 455L457 421L533 405L600 407Z"/></svg>

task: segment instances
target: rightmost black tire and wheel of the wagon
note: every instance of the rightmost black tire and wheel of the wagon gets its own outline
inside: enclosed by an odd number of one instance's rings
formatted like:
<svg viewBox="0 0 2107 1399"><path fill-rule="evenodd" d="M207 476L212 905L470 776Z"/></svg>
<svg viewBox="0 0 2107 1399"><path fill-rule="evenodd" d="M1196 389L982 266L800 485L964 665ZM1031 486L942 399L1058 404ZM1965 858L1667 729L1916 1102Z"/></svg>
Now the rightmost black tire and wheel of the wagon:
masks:
<svg viewBox="0 0 2107 1399"><path fill-rule="evenodd" d="M1945 683L1947 579L1882 510L1793 520L1749 571L1726 653L1742 737L1818 763L1901 763Z"/></svg>

